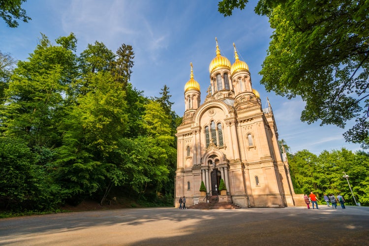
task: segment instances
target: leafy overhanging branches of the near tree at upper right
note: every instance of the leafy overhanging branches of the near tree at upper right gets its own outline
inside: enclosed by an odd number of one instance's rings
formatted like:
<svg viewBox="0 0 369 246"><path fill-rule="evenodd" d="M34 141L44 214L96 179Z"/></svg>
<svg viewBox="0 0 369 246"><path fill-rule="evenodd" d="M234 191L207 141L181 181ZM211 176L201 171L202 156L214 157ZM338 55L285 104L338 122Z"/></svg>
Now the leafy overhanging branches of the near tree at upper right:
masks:
<svg viewBox="0 0 369 246"><path fill-rule="evenodd" d="M247 0L223 0L225 16ZM259 0L255 12L274 29L260 74L267 91L306 102L301 120L344 128L369 147L369 3L367 0Z"/></svg>

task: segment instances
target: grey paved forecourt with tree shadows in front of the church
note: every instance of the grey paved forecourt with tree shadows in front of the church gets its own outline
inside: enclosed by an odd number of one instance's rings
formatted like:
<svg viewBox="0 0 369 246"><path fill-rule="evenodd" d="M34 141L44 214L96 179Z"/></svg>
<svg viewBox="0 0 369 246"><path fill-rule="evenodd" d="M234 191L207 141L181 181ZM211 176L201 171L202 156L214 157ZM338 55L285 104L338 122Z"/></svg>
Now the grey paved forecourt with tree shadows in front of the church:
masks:
<svg viewBox="0 0 369 246"><path fill-rule="evenodd" d="M369 245L369 207L120 209L0 219L0 245Z"/></svg>

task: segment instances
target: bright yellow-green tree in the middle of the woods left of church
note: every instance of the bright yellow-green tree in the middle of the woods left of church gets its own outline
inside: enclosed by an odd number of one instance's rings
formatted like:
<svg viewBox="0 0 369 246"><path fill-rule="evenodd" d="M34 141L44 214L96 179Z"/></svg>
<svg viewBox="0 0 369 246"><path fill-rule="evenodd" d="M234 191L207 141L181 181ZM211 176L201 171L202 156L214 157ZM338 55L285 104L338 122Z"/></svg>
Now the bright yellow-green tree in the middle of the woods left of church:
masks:
<svg viewBox="0 0 369 246"><path fill-rule="evenodd" d="M104 71L91 75L89 87L63 119L63 145L55 162L57 180L75 202L123 180L115 153L127 129L125 92Z"/></svg>

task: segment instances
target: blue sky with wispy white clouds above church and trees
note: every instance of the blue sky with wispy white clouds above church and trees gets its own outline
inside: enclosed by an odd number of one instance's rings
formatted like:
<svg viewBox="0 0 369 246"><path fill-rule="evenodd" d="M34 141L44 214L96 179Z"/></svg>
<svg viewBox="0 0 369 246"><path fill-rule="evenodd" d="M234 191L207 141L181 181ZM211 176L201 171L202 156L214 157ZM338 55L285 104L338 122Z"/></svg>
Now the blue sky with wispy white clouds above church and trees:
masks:
<svg viewBox="0 0 369 246"><path fill-rule="evenodd" d="M267 97L274 112L278 138L291 153L308 150L313 154L346 148L361 150L360 145L344 141L335 125L320 126L300 120L305 102L296 97L288 100L266 92L260 85L258 72L267 56L270 36L268 18L254 13L257 1L244 10L234 10L224 17L217 11L217 0L28 0L22 5L32 18L9 28L0 20L0 51L16 60L27 60L45 34L55 39L71 32L78 39L77 54L95 41L102 42L114 53L124 43L135 53L131 84L145 96L160 97L167 85L174 102L172 110L184 114L184 85L189 80L190 62L194 79L200 84L201 103L210 85L209 64L215 58L215 37L220 53L233 63L235 43L240 60L248 64L252 88L260 93L263 108Z"/></svg>

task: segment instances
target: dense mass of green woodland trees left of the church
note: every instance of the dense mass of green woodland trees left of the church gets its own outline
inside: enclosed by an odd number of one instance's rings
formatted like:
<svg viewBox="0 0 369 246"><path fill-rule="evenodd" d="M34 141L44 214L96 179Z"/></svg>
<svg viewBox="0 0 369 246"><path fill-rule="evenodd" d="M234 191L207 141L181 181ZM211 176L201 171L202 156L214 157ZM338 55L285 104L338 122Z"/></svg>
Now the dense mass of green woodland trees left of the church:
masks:
<svg viewBox="0 0 369 246"><path fill-rule="evenodd" d="M171 103L132 88L130 45L117 55L97 41L79 56L76 50L73 33L56 44L41 33L15 69L2 57L0 209L103 204L111 191L173 201L178 116Z"/></svg>

